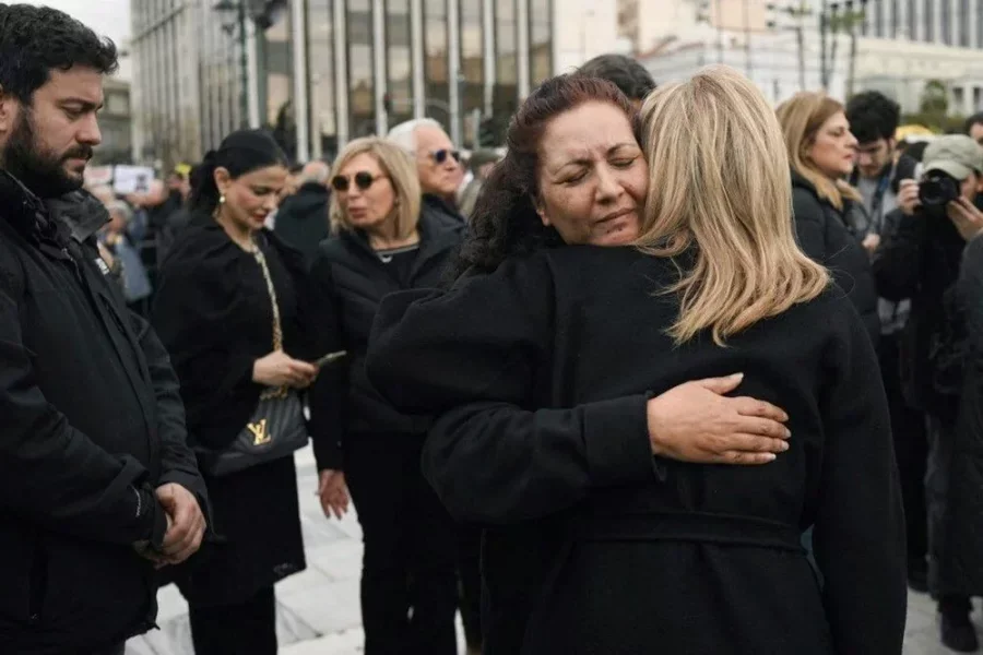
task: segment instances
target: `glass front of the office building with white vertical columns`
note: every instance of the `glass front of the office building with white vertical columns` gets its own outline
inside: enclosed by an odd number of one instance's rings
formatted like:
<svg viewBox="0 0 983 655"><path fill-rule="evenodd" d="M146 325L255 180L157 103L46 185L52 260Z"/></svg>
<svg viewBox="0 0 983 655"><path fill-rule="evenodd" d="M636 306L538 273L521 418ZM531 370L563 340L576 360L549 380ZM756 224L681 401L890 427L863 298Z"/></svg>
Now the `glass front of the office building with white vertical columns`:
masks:
<svg viewBox="0 0 983 655"><path fill-rule="evenodd" d="M471 146L553 74L555 2L292 2L258 48L262 122L297 159L425 116Z"/></svg>

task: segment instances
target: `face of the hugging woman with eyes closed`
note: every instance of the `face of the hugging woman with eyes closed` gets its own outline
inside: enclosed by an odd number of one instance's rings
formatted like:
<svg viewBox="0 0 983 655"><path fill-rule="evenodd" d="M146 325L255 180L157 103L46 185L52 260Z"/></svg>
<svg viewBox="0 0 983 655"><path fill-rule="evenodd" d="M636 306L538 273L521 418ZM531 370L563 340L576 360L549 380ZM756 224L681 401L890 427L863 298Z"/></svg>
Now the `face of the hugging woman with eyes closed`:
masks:
<svg viewBox="0 0 983 655"><path fill-rule="evenodd" d="M590 102L549 121L536 211L567 243L621 246L638 236L649 166L625 112Z"/></svg>

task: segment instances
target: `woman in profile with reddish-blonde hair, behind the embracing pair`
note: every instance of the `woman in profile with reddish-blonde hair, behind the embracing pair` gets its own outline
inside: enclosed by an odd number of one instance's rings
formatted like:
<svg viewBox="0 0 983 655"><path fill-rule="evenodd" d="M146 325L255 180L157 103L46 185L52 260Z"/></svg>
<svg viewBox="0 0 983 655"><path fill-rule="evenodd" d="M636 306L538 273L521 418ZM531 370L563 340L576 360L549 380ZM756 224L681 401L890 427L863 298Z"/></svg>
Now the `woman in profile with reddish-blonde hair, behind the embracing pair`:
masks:
<svg viewBox="0 0 983 655"><path fill-rule="evenodd" d="M860 191L844 179L853 170L856 139L843 105L819 92L802 92L777 111L792 167L792 213L798 245L830 270L876 345L880 319L867 251L876 249L878 238L867 234Z"/></svg>

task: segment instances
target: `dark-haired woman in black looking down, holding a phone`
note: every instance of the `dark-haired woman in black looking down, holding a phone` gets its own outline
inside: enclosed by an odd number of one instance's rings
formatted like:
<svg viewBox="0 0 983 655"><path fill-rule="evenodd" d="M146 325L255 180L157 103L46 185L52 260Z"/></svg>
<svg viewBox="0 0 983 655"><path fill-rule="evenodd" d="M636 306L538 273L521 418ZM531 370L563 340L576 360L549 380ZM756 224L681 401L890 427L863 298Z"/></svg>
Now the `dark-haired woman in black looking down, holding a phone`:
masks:
<svg viewBox="0 0 983 655"><path fill-rule="evenodd" d="M292 456L308 434L299 394L318 376L311 362L339 348L308 329L322 321L303 255L263 227L285 163L260 131L234 132L205 155L153 311L212 502L213 538L176 572L198 655L276 653L273 585L305 568ZM287 433L296 439L284 444ZM244 454L244 436L262 451ZM335 489L335 512L346 502Z"/></svg>

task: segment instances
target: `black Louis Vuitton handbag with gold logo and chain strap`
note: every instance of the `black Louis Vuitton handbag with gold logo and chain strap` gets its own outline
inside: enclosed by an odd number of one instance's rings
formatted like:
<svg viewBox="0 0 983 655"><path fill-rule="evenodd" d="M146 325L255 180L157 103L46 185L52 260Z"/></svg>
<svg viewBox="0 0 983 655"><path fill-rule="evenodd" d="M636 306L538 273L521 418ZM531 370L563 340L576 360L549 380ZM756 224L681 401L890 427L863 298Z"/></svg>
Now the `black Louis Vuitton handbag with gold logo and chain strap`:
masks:
<svg viewBox="0 0 983 655"><path fill-rule="evenodd" d="M256 247L252 255L267 281L273 306L273 349L280 350L283 348L283 327L276 289L262 250ZM199 449L197 454L202 471L220 477L289 456L307 445L307 421L297 391L288 386L270 388L260 395L249 422L228 448L221 451Z"/></svg>

